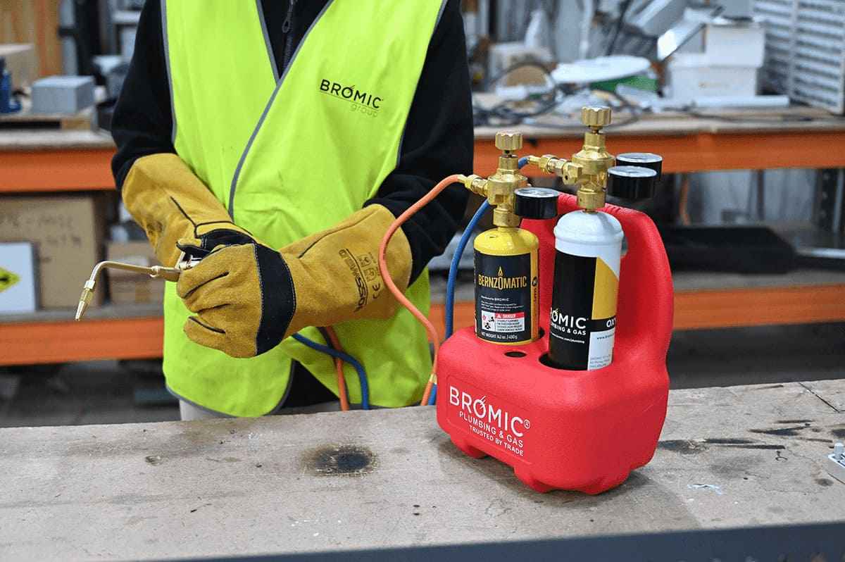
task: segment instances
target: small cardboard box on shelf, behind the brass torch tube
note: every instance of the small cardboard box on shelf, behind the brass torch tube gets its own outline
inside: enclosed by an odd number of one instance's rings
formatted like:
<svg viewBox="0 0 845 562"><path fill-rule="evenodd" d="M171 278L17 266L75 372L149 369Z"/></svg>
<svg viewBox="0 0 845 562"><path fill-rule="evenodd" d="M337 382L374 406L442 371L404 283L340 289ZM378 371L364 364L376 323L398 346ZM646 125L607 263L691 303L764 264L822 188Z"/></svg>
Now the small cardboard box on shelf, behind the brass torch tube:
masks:
<svg viewBox="0 0 845 562"><path fill-rule="evenodd" d="M146 241L110 242L106 245L106 259L144 267L160 265ZM165 282L131 271L108 270L109 294L114 304L163 303Z"/></svg>

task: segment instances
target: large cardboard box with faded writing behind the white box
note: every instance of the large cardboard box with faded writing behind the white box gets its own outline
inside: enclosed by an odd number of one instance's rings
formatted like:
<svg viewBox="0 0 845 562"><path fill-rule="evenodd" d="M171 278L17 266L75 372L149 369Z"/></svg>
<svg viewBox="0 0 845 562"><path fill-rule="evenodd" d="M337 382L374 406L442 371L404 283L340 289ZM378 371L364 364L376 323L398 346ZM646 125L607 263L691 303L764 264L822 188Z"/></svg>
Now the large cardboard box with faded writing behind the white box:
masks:
<svg viewBox="0 0 845 562"><path fill-rule="evenodd" d="M35 244L42 308L76 308L101 260L103 198L96 195L0 197L0 242ZM105 291L96 291L92 306Z"/></svg>

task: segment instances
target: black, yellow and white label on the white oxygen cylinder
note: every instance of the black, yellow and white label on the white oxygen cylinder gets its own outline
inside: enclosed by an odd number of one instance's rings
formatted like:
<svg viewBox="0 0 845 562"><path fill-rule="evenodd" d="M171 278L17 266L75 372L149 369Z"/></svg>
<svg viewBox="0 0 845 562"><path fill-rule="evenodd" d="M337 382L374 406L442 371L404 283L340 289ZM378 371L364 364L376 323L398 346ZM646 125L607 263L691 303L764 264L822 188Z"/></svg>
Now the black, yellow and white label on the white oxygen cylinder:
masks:
<svg viewBox="0 0 845 562"><path fill-rule="evenodd" d="M555 255L554 279L560 281L552 292L549 358L572 370L606 367L613 359L618 279L599 258L563 252Z"/></svg>

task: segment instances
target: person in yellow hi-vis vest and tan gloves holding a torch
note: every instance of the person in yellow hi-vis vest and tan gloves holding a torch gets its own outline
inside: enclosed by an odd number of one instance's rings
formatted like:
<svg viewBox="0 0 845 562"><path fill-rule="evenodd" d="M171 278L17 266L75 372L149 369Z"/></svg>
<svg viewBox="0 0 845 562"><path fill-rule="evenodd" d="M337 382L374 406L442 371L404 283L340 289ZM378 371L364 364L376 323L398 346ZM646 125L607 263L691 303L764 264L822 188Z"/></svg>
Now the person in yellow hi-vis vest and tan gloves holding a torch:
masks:
<svg viewBox="0 0 845 562"><path fill-rule="evenodd" d="M167 283L164 374L183 419L338 396L333 326L372 406L419 401L423 328L384 288L396 216L472 172L458 0L148 0L115 107L117 188ZM426 265L466 210L450 186L391 239L390 276L428 307ZM315 327L316 326L316 327ZM350 401L362 401L347 377Z"/></svg>

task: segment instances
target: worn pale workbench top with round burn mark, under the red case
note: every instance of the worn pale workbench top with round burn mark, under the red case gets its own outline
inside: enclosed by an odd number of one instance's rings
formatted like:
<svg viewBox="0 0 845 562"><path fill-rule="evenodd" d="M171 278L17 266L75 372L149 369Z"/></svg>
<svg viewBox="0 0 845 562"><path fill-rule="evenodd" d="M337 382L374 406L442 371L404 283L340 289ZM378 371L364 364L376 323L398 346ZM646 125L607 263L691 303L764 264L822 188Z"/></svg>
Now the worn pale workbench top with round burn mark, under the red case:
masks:
<svg viewBox="0 0 845 562"><path fill-rule="evenodd" d="M651 463L537 494L428 407L0 430L0 559L144 559L845 521L845 381L673 390ZM344 473L348 472L348 473Z"/></svg>

